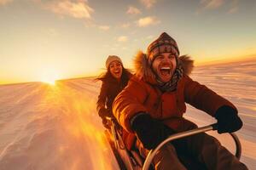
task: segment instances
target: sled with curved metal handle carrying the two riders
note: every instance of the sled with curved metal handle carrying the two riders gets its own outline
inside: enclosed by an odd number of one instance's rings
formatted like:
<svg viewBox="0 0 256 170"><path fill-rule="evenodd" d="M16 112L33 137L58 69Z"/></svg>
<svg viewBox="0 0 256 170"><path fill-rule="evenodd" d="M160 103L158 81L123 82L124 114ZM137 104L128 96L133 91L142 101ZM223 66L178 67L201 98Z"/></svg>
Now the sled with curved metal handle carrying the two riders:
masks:
<svg viewBox="0 0 256 170"><path fill-rule="evenodd" d="M125 148L124 141L121 137L121 130L119 125L114 122L112 117L108 117L108 122L110 125L110 129L106 130L106 135L108 137L108 142L111 145L111 148L113 150L113 154L116 157L116 160L119 163L119 167L121 170L148 170L148 169L154 169L154 167L151 165L151 161L153 160L155 154L157 153L160 148L172 140L175 139L181 139L190 135L194 135L197 133L205 133L207 131L211 130L217 130L218 126L217 123L211 124L205 127L198 127L189 131L185 131L182 133L175 133L171 136L169 136L167 139L165 139L163 142L161 142L154 150L150 150L148 153L148 156L146 159L143 159L142 156L138 153L138 150L127 150ZM237 159L241 158L241 143L238 137L236 136L236 133L230 133L230 136L234 140L236 144L236 154L235 156ZM195 165L195 163L192 163L191 169L205 169L201 168L198 165ZM195 167L193 167L195 166Z"/></svg>

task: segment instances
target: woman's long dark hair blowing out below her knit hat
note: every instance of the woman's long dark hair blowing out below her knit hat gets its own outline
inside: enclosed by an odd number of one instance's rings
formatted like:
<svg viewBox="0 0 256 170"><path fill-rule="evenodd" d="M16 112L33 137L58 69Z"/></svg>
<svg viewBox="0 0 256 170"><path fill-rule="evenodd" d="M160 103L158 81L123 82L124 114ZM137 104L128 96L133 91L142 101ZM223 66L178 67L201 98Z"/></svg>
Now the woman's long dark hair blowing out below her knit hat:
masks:
<svg viewBox="0 0 256 170"><path fill-rule="evenodd" d="M121 76L121 82L129 79L130 75L131 75L131 71L128 70L128 69L125 69L124 66L122 65L122 68L123 68L123 72L122 72L122 76ZM96 81L106 81L106 80L110 80L110 79L113 79L114 77L112 76L111 72L110 72L110 69L108 67L108 71L106 72L103 72L99 77L96 77Z"/></svg>

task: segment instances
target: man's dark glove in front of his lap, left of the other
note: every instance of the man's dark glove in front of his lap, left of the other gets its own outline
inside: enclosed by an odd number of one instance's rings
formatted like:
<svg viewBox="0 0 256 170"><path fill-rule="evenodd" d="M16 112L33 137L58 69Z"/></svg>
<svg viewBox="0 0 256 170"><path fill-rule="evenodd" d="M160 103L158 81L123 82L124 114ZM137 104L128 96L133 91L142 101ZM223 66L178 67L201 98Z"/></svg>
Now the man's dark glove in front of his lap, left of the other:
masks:
<svg viewBox="0 0 256 170"><path fill-rule="evenodd" d="M152 118L147 113L138 113L131 122L131 128L137 134L137 138L148 149L154 149L158 144L165 140L174 131L162 122Z"/></svg>

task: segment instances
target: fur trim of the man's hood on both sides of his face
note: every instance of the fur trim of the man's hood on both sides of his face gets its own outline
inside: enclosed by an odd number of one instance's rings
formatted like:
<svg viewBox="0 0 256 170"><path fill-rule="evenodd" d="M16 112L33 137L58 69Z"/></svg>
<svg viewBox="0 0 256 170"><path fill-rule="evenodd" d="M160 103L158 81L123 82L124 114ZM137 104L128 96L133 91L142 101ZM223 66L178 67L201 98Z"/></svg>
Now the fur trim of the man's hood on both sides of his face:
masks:
<svg viewBox="0 0 256 170"><path fill-rule="evenodd" d="M183 74L189 75L194 67L194 60L190 59L188 55L179 56L178 59L183 67ZM156 77L152 71L150 65L148 65L147 54L143 51L139 51L134 59L135 75L139 79L143 79L146 82L156 82Z"/></svg>

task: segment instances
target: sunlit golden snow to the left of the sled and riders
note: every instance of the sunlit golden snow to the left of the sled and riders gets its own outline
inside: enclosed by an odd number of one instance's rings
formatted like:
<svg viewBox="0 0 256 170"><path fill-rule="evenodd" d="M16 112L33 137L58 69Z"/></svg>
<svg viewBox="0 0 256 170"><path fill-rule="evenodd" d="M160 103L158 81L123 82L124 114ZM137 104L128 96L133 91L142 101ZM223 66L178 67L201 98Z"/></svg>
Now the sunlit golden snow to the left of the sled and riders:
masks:
<svg viewBox="0 0 256 170"><path fill-rule="evenodd" d="M0 86L0 169L118 169L88 79Z"/></svg>

